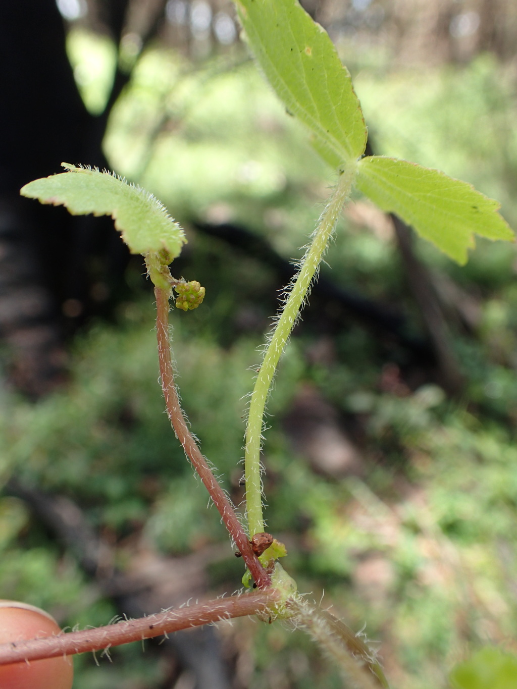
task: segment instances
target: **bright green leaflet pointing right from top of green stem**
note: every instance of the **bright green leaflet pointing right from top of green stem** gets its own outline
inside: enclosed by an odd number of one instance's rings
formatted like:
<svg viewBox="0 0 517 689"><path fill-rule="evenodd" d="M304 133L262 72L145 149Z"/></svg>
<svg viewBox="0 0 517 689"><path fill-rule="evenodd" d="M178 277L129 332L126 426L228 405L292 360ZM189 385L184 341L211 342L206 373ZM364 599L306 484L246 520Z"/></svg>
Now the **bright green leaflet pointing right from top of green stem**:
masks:
<svg viewBox="0 0 517 689"><path fill-rule="evenodd" d="M475 246L474 234L515 239L497 212L498 201L439 170L368 156L358 163L356 184L384 211L396 213L460 265L467 263L467 249Z"/></svg>

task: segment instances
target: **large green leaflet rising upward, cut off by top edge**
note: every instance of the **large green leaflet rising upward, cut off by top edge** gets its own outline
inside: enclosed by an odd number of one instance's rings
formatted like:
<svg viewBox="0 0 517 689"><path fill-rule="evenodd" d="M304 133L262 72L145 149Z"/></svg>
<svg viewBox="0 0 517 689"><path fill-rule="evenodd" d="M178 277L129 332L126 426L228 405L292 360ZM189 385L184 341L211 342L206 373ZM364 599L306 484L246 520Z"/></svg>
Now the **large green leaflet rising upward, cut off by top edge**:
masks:
<svg viewBox="0 0 517 689"><path fill-rule="evenodd" d="M287 110L337 166L356 161L367 130L350 74L327 32L297 0L235 0L247 41Z"/></svg>

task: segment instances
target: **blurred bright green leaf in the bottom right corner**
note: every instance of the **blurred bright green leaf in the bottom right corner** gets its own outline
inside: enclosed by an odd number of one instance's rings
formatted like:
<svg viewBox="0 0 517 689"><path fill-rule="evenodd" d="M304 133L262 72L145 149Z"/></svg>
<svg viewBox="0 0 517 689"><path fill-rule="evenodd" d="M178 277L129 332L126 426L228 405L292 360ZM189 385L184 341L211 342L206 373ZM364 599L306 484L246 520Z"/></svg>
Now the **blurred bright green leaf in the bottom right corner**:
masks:
<svg viewBox="0 0 517 689"><path fill-rule="evenodd" d="M449 675L454 689L515 689L517 657L487 646Z"/></svg>

